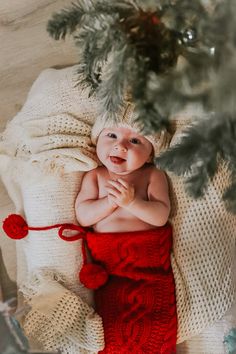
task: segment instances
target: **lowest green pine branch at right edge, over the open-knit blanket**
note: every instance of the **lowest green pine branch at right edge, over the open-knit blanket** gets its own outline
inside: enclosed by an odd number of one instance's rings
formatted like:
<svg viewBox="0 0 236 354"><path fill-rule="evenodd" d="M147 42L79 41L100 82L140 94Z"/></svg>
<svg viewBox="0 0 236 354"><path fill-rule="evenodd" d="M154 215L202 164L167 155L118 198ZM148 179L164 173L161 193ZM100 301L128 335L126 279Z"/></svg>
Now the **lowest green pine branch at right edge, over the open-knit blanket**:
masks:
<svg viewBox="0 0 236 354"><path fill-rule="evenodd" d="M231 185L223 199L236 212L236 119L229 114L213 114L197 121L183 133L182 139L156 158L161 168L186 177L186 189L194 198L203 196L217 172L219 159L227 163Z"/></svg>

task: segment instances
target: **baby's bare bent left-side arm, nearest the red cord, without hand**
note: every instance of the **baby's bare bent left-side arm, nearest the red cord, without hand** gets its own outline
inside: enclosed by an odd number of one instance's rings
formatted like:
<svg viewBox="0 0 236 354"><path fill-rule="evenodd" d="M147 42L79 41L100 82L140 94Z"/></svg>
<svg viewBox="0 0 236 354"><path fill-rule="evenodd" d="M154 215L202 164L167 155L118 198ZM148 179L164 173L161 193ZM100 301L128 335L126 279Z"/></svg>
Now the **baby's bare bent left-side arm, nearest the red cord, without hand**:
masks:
<svg viewBox="0 0 236 354"><path fill-rule="evenodd" d="M92 226L110 215L117 205L108 197L98 199L97 169L84 175L80 192L75 202L75 213L81 226Z"/></svg>

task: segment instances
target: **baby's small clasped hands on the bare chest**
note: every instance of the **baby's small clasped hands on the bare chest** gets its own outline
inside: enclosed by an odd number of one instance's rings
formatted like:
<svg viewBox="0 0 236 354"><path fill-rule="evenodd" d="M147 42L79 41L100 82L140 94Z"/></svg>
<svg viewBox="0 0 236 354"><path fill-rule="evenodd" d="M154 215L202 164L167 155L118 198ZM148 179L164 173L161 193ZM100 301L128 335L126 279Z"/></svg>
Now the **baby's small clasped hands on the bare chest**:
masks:
<svg viewBox="0 0 236 354"><path fill-rule="evenodd" d="M117 181L109 180L111 187L107 187L108 199L120 207L127 207L135 197L134 186L119 178Z"/></svg>

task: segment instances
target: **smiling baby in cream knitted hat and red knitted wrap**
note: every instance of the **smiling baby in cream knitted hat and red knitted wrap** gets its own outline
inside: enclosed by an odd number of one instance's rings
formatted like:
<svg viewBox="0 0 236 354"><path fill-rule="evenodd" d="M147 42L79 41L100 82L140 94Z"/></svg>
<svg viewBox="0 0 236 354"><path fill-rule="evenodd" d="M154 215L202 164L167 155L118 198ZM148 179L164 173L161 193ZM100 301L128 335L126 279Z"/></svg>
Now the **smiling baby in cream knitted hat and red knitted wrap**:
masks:
<svg viewBox="0 0 236 354"><path fill-rule="evenodd" d="M95 291L104 324L103 353L175 353L168 183L151 163L166 132L142 135L128 104L116 125L97 121L92 139L102 166L85 174L76 216L80 225L93 228L88 248L109 275Z"/></svg>

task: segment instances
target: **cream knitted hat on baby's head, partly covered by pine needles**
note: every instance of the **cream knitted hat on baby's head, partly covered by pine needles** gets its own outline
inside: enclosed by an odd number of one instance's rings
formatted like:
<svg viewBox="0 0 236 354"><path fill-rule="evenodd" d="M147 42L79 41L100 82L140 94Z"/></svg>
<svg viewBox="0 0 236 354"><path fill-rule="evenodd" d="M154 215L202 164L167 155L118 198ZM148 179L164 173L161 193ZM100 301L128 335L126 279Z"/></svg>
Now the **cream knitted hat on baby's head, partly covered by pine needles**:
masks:
<svg viewBox="0 0 236 354"><path fill-rule="evenodd" d="M136 121L137 117L138 114L135 111L134 104L128 102L125 105L122 114L120 115L120 117L117 119L116 122L112 121L111 119L108 120L106 117L98 118L95 121L95 124L91 132L92 143L96 145L97 139L103 129L111 128L114 126L116 127L122 126L122 127L131 128L137 133L143 135L152 144L154 149L154 156L155 157L159 156L162 151L168 148L170 142L170 134L167 132L167 130L163 129L160 132L155 134L144 135L140 127L140 124Z"/></svg>

